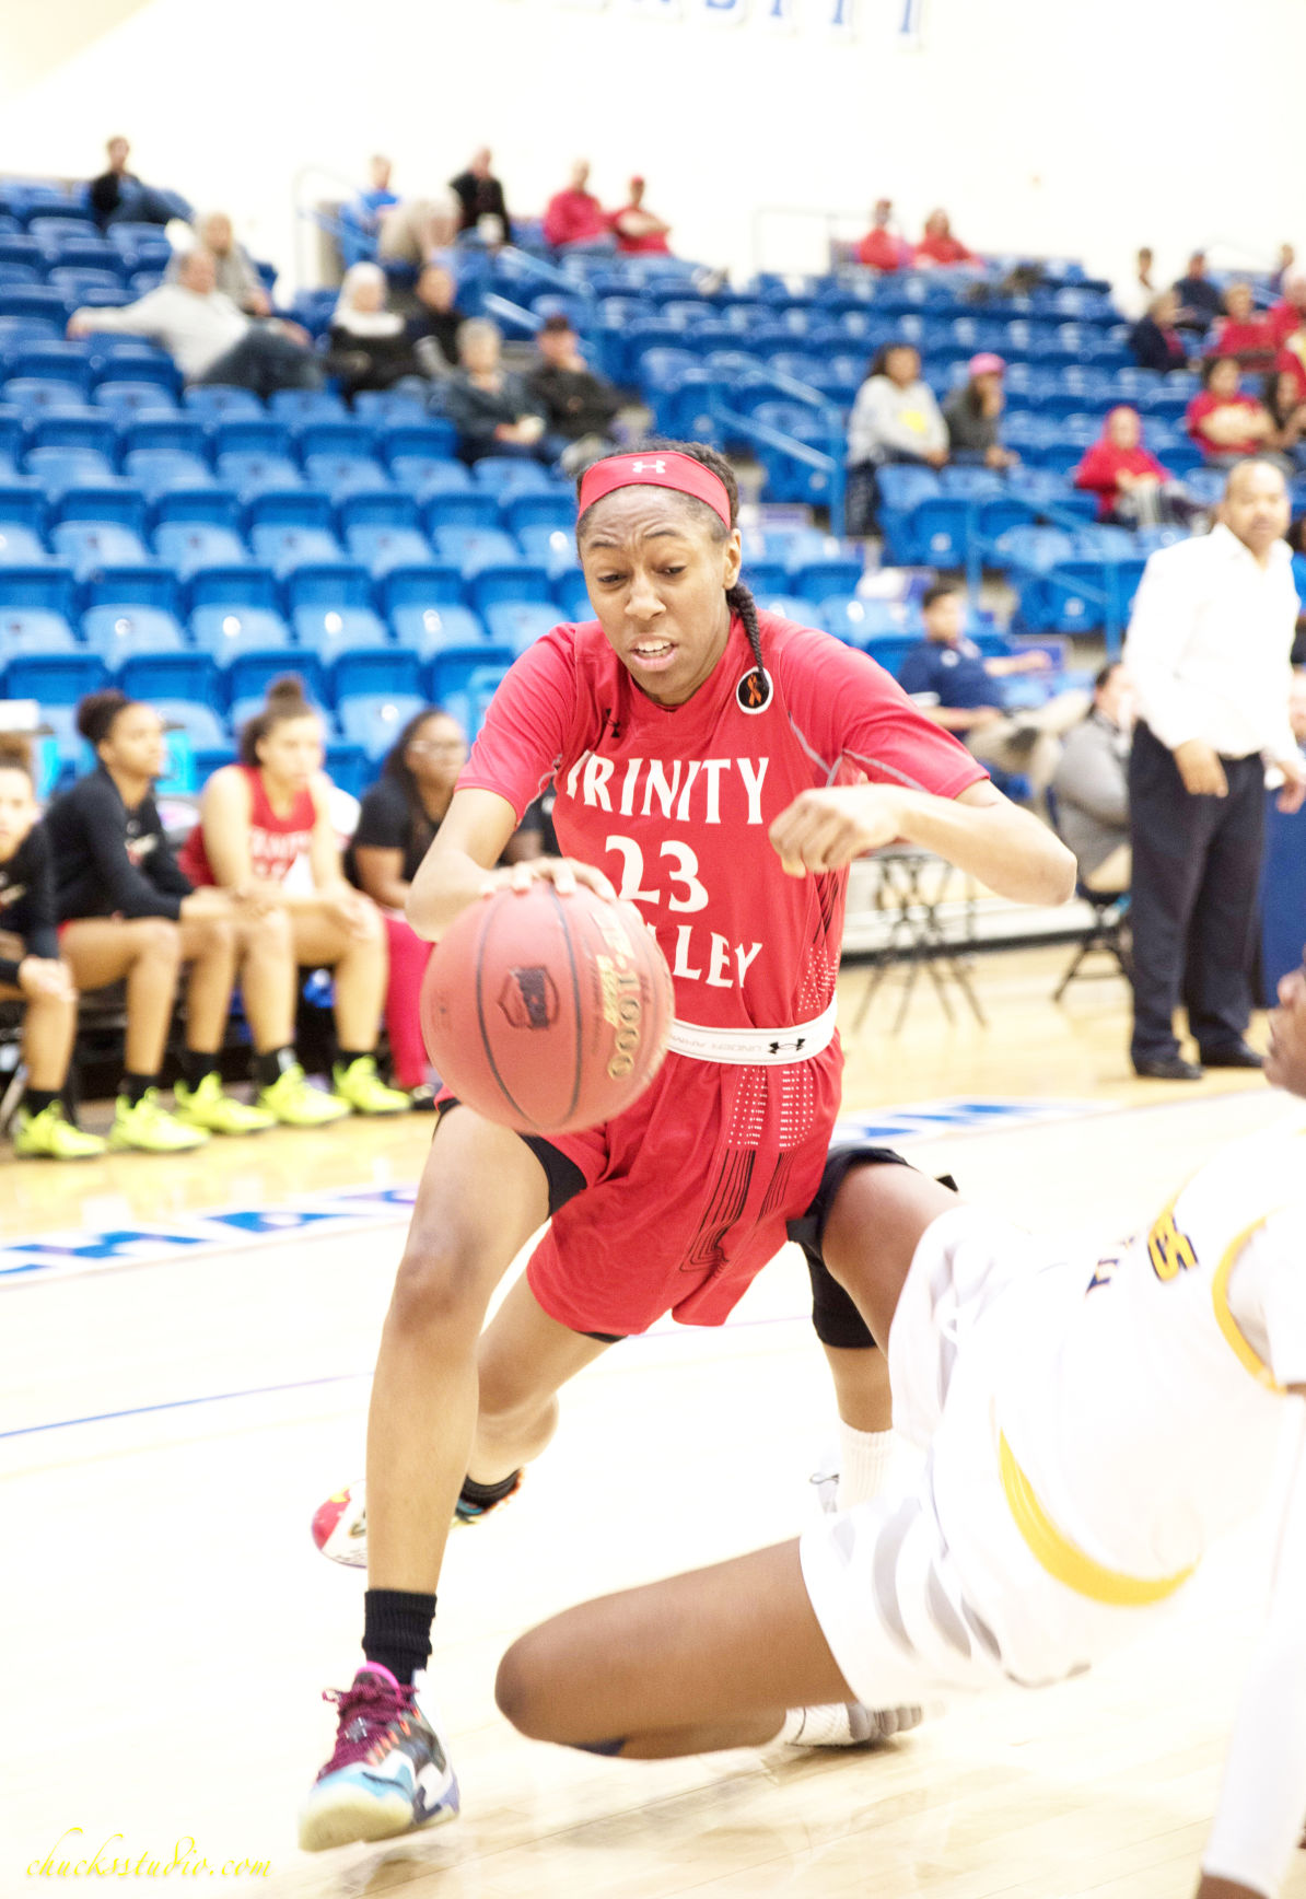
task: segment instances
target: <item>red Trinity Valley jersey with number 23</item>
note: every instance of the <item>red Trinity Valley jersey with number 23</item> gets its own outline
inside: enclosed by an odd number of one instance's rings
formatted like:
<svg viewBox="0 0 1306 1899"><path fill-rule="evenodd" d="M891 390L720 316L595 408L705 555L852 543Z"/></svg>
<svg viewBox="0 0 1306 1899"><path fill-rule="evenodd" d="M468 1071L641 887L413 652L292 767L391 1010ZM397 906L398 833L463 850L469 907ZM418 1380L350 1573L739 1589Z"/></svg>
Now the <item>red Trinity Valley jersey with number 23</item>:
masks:
<svg viewBox="0 0 1306 1899"><path fill-rule="evenodd" d="M459 779L518 818L552 779L562 851L640 906L676 1016L712 1029L788 1027L833 999L847 870L788 877L767 836L801 792L871 780L955 798L985 777L866 653L759 619L769 693L735 621L716 670L672 708L634 684L598 621L554 627L505 676Z"/></svg>

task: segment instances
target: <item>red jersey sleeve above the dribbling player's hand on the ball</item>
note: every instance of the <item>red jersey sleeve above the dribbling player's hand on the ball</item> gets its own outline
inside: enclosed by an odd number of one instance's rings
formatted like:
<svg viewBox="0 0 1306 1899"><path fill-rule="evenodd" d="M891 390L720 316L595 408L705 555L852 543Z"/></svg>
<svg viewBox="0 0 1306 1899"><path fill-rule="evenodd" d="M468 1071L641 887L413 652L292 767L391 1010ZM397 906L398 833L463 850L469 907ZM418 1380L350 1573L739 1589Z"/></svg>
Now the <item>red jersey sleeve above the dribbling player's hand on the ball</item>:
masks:
<svg viewBox="0 0 1306 1899"><path fill-rule="evenodd" d="M520 824L562 758L573 716L573 634L554 627L505 672L457 788L497 792Z"/></svg>

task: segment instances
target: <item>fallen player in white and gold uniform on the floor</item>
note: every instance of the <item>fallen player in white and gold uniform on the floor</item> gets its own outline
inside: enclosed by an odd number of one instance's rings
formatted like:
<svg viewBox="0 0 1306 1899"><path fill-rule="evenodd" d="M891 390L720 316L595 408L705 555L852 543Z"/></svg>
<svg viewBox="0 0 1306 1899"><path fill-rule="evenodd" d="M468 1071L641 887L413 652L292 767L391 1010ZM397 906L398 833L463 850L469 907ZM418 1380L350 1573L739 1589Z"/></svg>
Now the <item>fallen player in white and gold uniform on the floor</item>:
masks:
<svg viewBox="0 0 1306 1899"><path fill-rule="evenodd" d="M1221 1149L1107 1257L907 1166L854 1166L824 1257L886 1344L928 1474L801 1542L554 1616L503 1658L509 1719L659 1758L767 1741L803 1702L1048 1686L1147 1641L1278 1464L1274 1586L1268 1610L1247 1605L1198 1884L1274 1899L1306 1812L1306 968L1270 1022L1291 1117Z"/></svg>

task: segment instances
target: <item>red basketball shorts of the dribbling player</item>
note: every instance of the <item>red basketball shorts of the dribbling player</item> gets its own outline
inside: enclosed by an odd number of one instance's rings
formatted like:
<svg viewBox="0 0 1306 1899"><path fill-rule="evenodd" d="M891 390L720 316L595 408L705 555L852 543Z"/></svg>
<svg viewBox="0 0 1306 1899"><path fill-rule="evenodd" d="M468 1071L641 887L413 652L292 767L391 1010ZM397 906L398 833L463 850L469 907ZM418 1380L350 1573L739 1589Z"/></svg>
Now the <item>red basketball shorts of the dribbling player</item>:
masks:
<svg viewBox="0 0 1306 1899"><path fill-rule="evenodd" d="M668 1054L625 1115L549 1136L585 1175L528 1282L571 1331L645 1331L664 1312L719 1326L811 1204L839 1111L843 1056L727 1067Z"/></svg>

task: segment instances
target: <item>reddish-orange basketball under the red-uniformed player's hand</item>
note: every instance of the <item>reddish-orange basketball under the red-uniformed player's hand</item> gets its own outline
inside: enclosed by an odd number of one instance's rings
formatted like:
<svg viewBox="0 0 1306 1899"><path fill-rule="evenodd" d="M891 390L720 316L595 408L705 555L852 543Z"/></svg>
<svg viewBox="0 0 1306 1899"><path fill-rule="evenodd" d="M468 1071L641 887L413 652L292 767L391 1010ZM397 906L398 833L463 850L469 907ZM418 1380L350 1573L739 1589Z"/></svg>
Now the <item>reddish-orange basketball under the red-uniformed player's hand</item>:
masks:
<svg viewBox="0 0 1306 1899"><path fill-rule="evenodd" d="M611 1120L662 1065L672 978L634 904L543 879L465 910L421 987L427 1054L459 1101L518 1134Z"/></svg>

